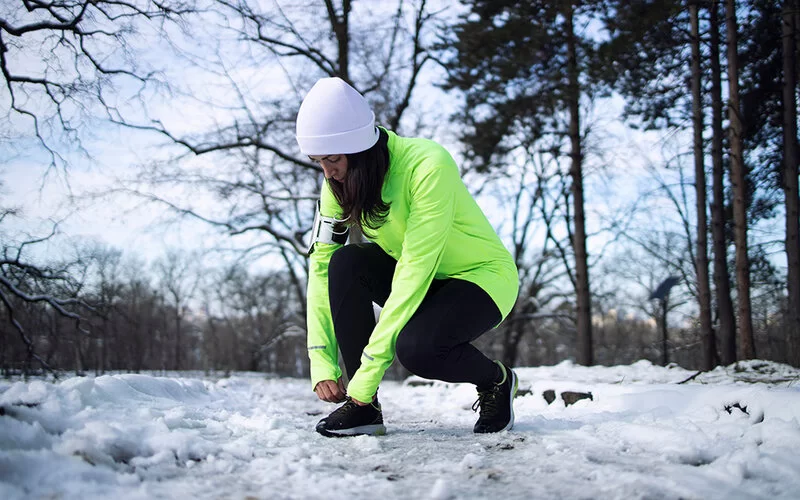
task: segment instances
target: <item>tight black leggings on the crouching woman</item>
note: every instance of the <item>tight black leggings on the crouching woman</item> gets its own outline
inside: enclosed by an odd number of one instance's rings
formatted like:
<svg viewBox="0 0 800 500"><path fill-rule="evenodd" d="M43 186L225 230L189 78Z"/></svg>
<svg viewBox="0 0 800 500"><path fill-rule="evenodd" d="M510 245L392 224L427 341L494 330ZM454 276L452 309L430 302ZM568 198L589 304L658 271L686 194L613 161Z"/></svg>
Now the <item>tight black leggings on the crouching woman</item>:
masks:
<svg viewBox="0 0 800 500"><path fill-rule="evenodd" d="M372 302L386 303L396 265L374 243L346 245L331 257L328 292L333 326L350 378L361 366L361 353L375 328ZM500 319L494 301L478 285L434 280L397 337L397 358L420 377L487 387L496 381L499 368L470 342Z"/></svg>

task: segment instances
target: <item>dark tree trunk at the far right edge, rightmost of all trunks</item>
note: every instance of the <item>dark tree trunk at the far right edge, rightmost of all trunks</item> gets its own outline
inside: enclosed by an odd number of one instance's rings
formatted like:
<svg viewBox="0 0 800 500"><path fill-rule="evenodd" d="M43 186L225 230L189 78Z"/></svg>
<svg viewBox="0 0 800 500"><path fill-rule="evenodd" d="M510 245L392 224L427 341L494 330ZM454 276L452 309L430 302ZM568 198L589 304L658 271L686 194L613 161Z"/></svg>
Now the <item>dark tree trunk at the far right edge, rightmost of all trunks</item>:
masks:
<svg viewBox="0 0 800 500"><path fill-rule="evenodd" d="M796 0L783 5L783 193L786 200L787 343L789 362L800 365L800 211L798 211Z"/></svg>

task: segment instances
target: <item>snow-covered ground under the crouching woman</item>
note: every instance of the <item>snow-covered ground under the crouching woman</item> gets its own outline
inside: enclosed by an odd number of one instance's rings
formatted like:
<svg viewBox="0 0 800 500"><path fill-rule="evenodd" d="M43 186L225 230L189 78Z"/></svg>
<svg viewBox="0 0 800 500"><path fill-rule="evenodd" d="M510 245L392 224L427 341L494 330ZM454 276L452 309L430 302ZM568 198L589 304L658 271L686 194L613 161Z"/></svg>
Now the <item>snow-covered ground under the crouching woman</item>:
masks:
<svg viewBox="0 0 800 500"><path fill-rule="evenodd" d="M800 371L693 373L519 368L497 435L472 433L470 386L387 382L389 433L346 439L314 432L334 406L307 380L0 382L0 498L800 498Z"/></svg>

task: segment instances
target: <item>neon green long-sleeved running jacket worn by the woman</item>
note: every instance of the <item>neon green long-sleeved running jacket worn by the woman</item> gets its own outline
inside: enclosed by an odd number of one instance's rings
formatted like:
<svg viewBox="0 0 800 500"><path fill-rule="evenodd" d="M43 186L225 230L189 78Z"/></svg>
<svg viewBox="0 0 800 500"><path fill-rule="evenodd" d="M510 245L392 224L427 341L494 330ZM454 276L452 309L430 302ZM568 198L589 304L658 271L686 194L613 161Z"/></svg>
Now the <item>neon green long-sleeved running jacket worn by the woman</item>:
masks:
<svg viewBox="0 0 800 500"><path fill-rule="evenodd" d="M434 278L457 278L480 286L505 318L517 298L519 281L503 246L461 180L442 146L426 139L389 134L389 170L381 196L391 207L386 222L369 237L397 259L392 291L347 388L358 401L372 401L394 360L397 335L411 319ZM342 217L327 182L320 212ZM341 245L316 243L309 262L308 355L312 388L337 380L338 346L328 301L328 262Z"/></svg>

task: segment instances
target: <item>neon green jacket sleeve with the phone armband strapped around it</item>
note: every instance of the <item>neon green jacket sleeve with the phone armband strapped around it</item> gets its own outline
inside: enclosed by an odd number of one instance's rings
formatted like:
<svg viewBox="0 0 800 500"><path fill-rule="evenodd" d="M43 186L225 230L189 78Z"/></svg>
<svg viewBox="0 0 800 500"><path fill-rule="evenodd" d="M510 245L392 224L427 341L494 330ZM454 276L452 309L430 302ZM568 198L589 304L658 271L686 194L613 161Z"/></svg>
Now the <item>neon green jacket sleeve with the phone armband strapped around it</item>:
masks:
<svg viewBox="0 0 800 500"><path fill-rule="evenodd" d="M341 217L341 209L324 182L320 196L320 213ZM313 243L313 242L312 242ZM342 376L339 368L339 346L333 330L330 301L328 300L328 263L331 255L341 245L313 243L314 251L308 262L308 289L306 290L307 347L311 365L311 388L322 380L338 380Z"/></svg>

